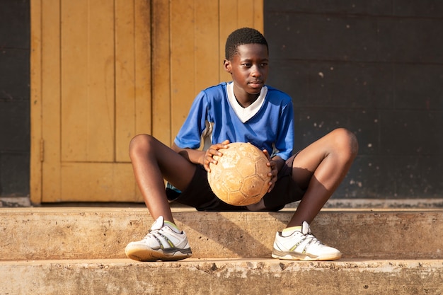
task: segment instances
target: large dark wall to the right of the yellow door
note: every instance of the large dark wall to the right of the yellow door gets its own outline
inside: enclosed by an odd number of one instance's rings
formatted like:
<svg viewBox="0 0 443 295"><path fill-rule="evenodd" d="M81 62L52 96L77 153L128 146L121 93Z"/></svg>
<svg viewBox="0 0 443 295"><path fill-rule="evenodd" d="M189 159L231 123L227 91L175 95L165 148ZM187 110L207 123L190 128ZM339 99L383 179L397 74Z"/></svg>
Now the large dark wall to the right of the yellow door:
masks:
<svg viewBox="0 0 443 295"><path fill-rule="evenodd" d="M334 197L443 196L443 1L265 0L265 36L296 149L336 127L359 139Z"/></svg>

